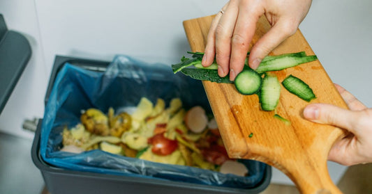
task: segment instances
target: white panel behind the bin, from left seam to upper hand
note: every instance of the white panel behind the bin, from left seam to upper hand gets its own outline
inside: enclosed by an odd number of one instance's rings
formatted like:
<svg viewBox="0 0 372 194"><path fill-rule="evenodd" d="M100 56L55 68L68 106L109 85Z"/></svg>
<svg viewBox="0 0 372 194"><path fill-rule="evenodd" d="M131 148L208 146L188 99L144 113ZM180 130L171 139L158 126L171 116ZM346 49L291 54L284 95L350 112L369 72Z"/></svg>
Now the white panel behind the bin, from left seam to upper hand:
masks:
<svg viewBox="0 0 372 194"><path fill-rule="evenodd" d="M178 62L189 50L182 21L214 14L224 3L36 0L45 62L52 64L55 54L105 60L127 54L149 62Z"/></svg>

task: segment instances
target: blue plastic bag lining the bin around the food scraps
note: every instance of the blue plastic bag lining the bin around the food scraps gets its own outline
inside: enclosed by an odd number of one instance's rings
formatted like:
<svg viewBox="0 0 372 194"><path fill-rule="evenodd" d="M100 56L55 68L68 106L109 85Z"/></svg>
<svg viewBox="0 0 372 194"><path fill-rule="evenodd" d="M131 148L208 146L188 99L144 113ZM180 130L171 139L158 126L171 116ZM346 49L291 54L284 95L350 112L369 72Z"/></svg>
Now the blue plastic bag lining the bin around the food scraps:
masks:
<svg viewBox="0 0 372 194"><path fill-rule="evenodd" d="M242 161L249 175L239 177L183 165L154 163L101 150L82 154L59 152L61 132L64 127L70 128L80 122L81 110L93 107L106 113L110 107L117 110L136 106L141 97L154 103L159 97L168 103L170 99L180 97L185 108L200 105L211 113L201 81L174 75L168 65L147 64L128 56L116 56L105 72L94 72L66 63L54 81L45 107L40 143L43 160L70 170L212 186L254 188L262 181L267 165L258 161Z"/></svg>

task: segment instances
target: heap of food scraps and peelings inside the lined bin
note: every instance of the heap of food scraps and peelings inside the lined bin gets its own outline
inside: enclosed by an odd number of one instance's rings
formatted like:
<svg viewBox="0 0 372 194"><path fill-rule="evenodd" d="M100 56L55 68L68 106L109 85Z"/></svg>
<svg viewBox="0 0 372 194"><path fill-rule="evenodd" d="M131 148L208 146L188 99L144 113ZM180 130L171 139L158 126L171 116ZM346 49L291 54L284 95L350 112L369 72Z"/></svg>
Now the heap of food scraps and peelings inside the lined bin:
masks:
<svg viewBox="0 0 372 194"><path fill-rule="evenodd" d="M165 107L163 99L153 104L142 97L131 114L115 113L113 108L105 114L89 108L82 113L80 121L75 127L65 127L61 151L79 154L101 149L158 163L218 172L222 169L223 173L241 176L248 173L241 163L245 170L234 170L236 167L229 170L230 165L225 164L239 162L228 158L216 120L207 117L202 106L186 110L179 98L172 99Z"/></svg>

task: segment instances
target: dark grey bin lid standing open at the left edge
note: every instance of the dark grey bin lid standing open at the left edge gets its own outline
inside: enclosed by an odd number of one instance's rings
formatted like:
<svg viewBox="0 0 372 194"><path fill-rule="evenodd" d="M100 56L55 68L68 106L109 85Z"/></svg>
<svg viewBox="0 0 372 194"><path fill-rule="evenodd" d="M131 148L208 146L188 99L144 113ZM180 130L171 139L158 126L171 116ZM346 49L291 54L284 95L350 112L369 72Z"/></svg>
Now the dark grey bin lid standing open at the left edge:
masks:
<svg viewBox="0 0 372 194"><path fill-rule="evenodd" d="M30 57L29 41L20 33L8 31L0 14L0 114Z"/></svg>

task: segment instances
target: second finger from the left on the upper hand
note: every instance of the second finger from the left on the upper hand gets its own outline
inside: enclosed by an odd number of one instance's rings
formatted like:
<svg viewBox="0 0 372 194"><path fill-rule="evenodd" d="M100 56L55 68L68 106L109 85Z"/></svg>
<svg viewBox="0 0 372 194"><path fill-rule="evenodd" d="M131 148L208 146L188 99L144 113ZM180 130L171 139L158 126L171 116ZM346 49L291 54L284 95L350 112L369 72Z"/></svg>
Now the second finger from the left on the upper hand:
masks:
<svg viewBox="0 0 372 194"><path fill-rule="evenodd" d="M230 1L216 26L216 63L219 76L226 76L230 69L231 37L238 11L237 1Z"/></svg>

